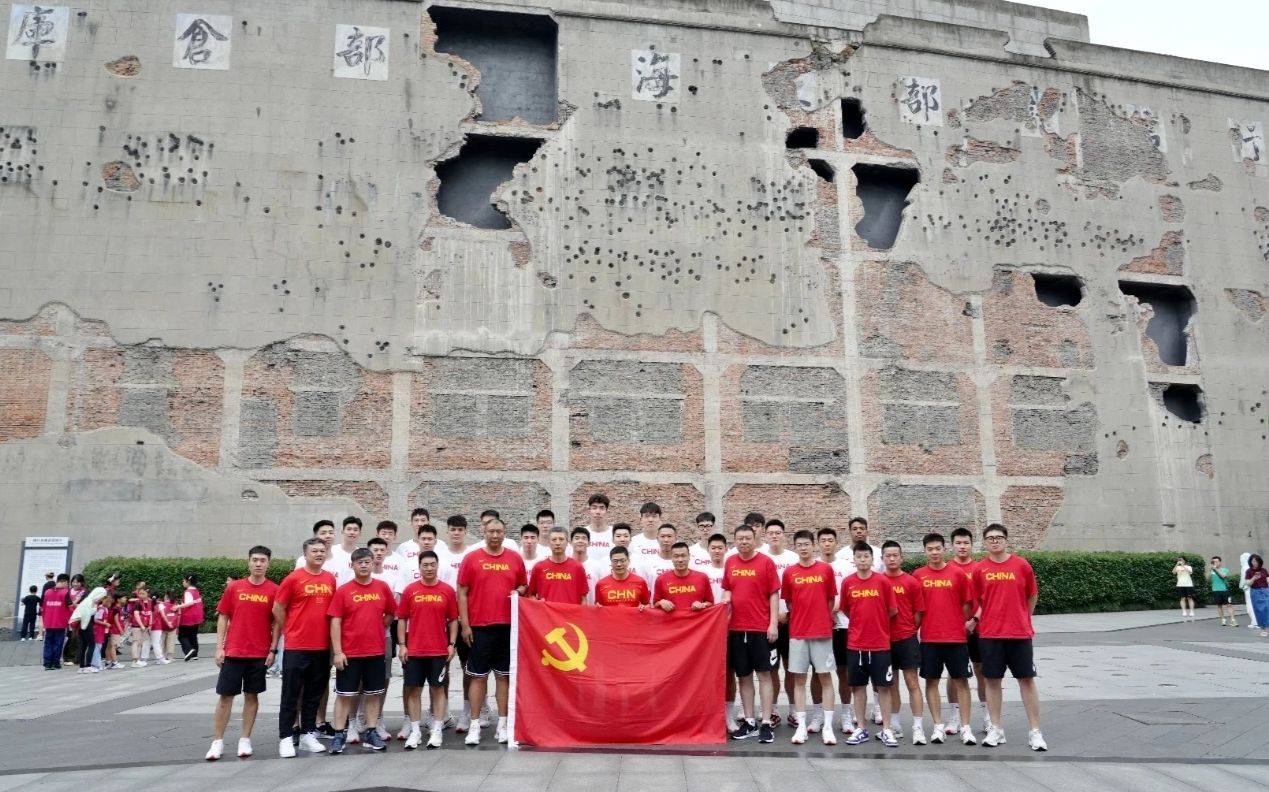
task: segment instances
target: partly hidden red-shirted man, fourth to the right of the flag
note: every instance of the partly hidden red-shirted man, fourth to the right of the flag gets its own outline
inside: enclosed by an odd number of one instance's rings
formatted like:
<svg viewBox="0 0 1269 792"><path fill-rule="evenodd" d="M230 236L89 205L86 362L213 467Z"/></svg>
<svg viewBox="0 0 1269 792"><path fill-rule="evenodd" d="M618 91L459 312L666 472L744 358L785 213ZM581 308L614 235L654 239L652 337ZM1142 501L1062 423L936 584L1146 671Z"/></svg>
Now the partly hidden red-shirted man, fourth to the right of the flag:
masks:
<svg viewBox="0 0 1269 792"><path fill-rule="evenodd" d="M898 542L882 542L881 557L886 564L886 581L895 591L895 607L898 609L890 619L890 661L896 671L902 671L904 684L907 685L907 706L912 711L912 745L925 745L925 708L921 706L921 683L916 674L921 668L921 644L916 640L916 631L925 618L925 594L916 578L904 571L904 548ZM890 730L896 740L904 739L898 721L902 706L898 685L890 685Z"/></svg>

